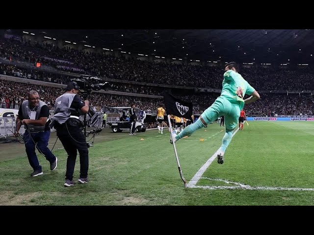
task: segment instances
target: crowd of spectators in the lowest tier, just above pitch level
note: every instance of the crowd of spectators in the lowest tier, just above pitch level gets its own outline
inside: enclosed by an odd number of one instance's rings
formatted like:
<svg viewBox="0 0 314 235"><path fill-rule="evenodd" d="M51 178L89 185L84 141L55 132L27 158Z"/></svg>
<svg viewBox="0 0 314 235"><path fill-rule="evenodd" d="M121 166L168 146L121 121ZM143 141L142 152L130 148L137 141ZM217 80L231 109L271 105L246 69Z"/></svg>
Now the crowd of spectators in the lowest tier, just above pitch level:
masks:
<svg viewBox="0 0 314 235"><path fill-rule="evenodd" d="M56 97L64 93L61 88L38 86L33 84L11 82L0 80L0 107L18 108L27 98L30 90L38 91L41 100L46 102L50 109L53 109ZM193 102L193 113L202 113L219 96L218 93L178 95L183 100ZM135 103L136 107L143 106L147 112L156 112L158 104L163 103L162 99L146 98L127 95L114 95L93 92L87 96L90 104L96 110L103 111L109 107L129 107ZM16 106L18 105L18 106ZM270 111L279 115L314 115L313 96L311 94L273 94L261 93L258 102L245 106L245 112L249 115L267 115Z"/></svg>

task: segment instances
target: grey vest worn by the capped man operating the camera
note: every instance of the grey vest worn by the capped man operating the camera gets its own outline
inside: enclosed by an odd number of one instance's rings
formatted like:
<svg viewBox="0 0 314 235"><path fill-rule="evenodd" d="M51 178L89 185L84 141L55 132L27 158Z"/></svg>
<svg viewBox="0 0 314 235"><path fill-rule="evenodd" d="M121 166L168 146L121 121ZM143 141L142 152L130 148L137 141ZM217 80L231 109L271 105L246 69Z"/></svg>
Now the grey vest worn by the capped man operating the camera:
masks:
<svg viewBox="0 0 314 235"><path fill-rule="evenodd" d="M70 107L74 96L76 96L76 94L65 93L55 100L54 115L52 117L53 120L56 120L58 123L63 124L70 118Z"/></svg>

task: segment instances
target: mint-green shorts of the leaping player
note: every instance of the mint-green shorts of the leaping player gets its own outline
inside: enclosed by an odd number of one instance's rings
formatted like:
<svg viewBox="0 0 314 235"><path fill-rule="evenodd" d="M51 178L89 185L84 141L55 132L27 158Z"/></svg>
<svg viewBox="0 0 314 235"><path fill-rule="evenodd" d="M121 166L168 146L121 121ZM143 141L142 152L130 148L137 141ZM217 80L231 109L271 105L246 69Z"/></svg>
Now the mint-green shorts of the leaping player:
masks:
<svg viewBox="0 0 314 235"><path fill-rule="evenodd" d="M232 103L226 97L219 96L201 116L209 124L222 115L225 116L226 130L234 130L240 117L239 103Z"/></svg>

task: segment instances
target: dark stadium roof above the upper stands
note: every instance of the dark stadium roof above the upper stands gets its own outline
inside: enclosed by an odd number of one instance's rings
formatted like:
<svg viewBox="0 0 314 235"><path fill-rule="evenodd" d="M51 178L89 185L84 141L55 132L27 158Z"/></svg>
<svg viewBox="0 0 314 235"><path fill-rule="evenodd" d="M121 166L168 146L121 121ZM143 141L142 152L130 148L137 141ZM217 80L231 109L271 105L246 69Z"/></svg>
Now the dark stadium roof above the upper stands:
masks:
<svg viewBox="0 0 314 235"><path fill-rule="evenodd" d="M313 63L311 29L23 29L95 47L201 61ZM254 60L255 59L255 60Z"/></svg>

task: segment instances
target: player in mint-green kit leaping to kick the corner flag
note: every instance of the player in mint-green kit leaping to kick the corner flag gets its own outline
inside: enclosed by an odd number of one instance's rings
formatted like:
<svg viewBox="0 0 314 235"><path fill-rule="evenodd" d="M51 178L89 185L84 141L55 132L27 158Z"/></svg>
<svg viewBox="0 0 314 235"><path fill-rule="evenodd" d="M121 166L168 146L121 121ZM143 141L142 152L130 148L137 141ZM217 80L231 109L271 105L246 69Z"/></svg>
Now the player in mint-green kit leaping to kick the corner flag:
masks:
<svg viewBox="0 0 314 235"><path fill-rule="evenodd" d="M244 104L252 103L260 98L260 95L244 78L237 72L238 65L230 62L225 66L222 91L215 102L202 113L196 122L188 125L180 134L172 132L172 139L176 142L185 136L190 136L196 130L215 121L218 117L225 116L226 133L222 138L222 144L217 151L218 164L224 163L225 151L232 139L232 133L237 126L237 121ZM244 94L251 95L243 100ZM172 143L172 140L170 140Z"/></svg>

